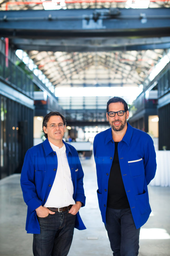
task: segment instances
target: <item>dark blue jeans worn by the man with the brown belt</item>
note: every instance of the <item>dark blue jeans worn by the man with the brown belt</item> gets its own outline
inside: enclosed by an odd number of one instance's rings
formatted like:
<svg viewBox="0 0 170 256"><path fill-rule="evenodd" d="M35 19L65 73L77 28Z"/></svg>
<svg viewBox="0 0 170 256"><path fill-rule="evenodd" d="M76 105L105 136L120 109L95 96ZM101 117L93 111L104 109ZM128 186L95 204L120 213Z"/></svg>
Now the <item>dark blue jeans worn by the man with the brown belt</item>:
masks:
<svg viewBox="0 0 170 256"><path fill-rule="evenodd" d="M73 238L76 215L65 211L37 218L40 234L33 235L33 255L66 256Z"/></svg>

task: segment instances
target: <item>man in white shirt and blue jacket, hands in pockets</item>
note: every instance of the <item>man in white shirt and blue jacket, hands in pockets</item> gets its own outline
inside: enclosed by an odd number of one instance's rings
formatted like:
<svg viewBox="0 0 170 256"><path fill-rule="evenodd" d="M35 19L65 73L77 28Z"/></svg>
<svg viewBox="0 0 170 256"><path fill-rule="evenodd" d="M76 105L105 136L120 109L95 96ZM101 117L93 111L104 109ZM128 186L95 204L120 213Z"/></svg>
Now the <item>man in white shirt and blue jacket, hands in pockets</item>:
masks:
<svg viewBox="0 0 170 256"><path fill-rule="evenodd" d="M26 230L34 234L34 256L66 256L74 227L85 229L79 214L84 174L76 149L62 140L65 117L50 112L42 128L46 140L26 152L21 172Z"/></svg>

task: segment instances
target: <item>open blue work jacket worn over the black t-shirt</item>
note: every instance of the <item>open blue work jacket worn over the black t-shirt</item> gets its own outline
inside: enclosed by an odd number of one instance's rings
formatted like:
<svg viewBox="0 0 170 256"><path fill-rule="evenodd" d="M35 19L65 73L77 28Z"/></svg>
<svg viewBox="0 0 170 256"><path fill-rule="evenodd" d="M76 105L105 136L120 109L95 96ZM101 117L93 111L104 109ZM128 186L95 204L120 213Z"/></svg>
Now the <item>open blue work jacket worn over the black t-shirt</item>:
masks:
<svg viewBox="0 0 170 256"><path fill-rule="evenodd" d="M98 181L98 201L106 224L109 174L115 144L112 130L98 133L94 138L94 158ZM156 172L156 153L152 138L127 123L127 131L118 143L118 156L123 184L136 228L141 227L151 212L147 185Z"/></svg>

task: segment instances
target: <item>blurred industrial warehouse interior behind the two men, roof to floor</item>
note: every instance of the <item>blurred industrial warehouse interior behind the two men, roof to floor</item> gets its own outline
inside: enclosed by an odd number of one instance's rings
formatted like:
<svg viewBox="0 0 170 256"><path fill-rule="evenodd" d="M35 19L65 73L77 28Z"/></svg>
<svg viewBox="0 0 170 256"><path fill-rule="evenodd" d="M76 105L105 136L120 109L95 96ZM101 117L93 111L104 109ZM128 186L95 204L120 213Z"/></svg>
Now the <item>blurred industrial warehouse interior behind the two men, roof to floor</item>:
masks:
<svg viewBox="0 0 170 256"><path fill-rule="evenodd" d="M63 140L84 171L86 230L69 256L113 255L102 222L93 141L110 128L106 105L128 104L132 127L148 133L157 170L139 256L170 256L170 2L168 0L0 0L0 256L31 256L20 176L25 154L45 140L50 111L66 118Z"/></svg>

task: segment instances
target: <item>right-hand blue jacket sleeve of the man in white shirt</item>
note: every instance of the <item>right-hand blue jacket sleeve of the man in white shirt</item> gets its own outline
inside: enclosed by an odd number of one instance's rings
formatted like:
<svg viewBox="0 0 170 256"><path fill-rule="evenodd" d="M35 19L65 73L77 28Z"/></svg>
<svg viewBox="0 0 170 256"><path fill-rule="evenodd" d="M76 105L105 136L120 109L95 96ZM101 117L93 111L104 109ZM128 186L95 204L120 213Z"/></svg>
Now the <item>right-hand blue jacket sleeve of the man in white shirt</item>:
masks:
<svg viewBox="0 0 170 256"><path fill-rule="evenodd" d="M75 202L80 201L82 203L82 206L85 206L86 197L84 195L84 188L83 188L84 173L81 167L79 155L76 150L75 150L75 154L76 154L76 167L79 170L77 173L77 188L76 188Z"/></svg>

